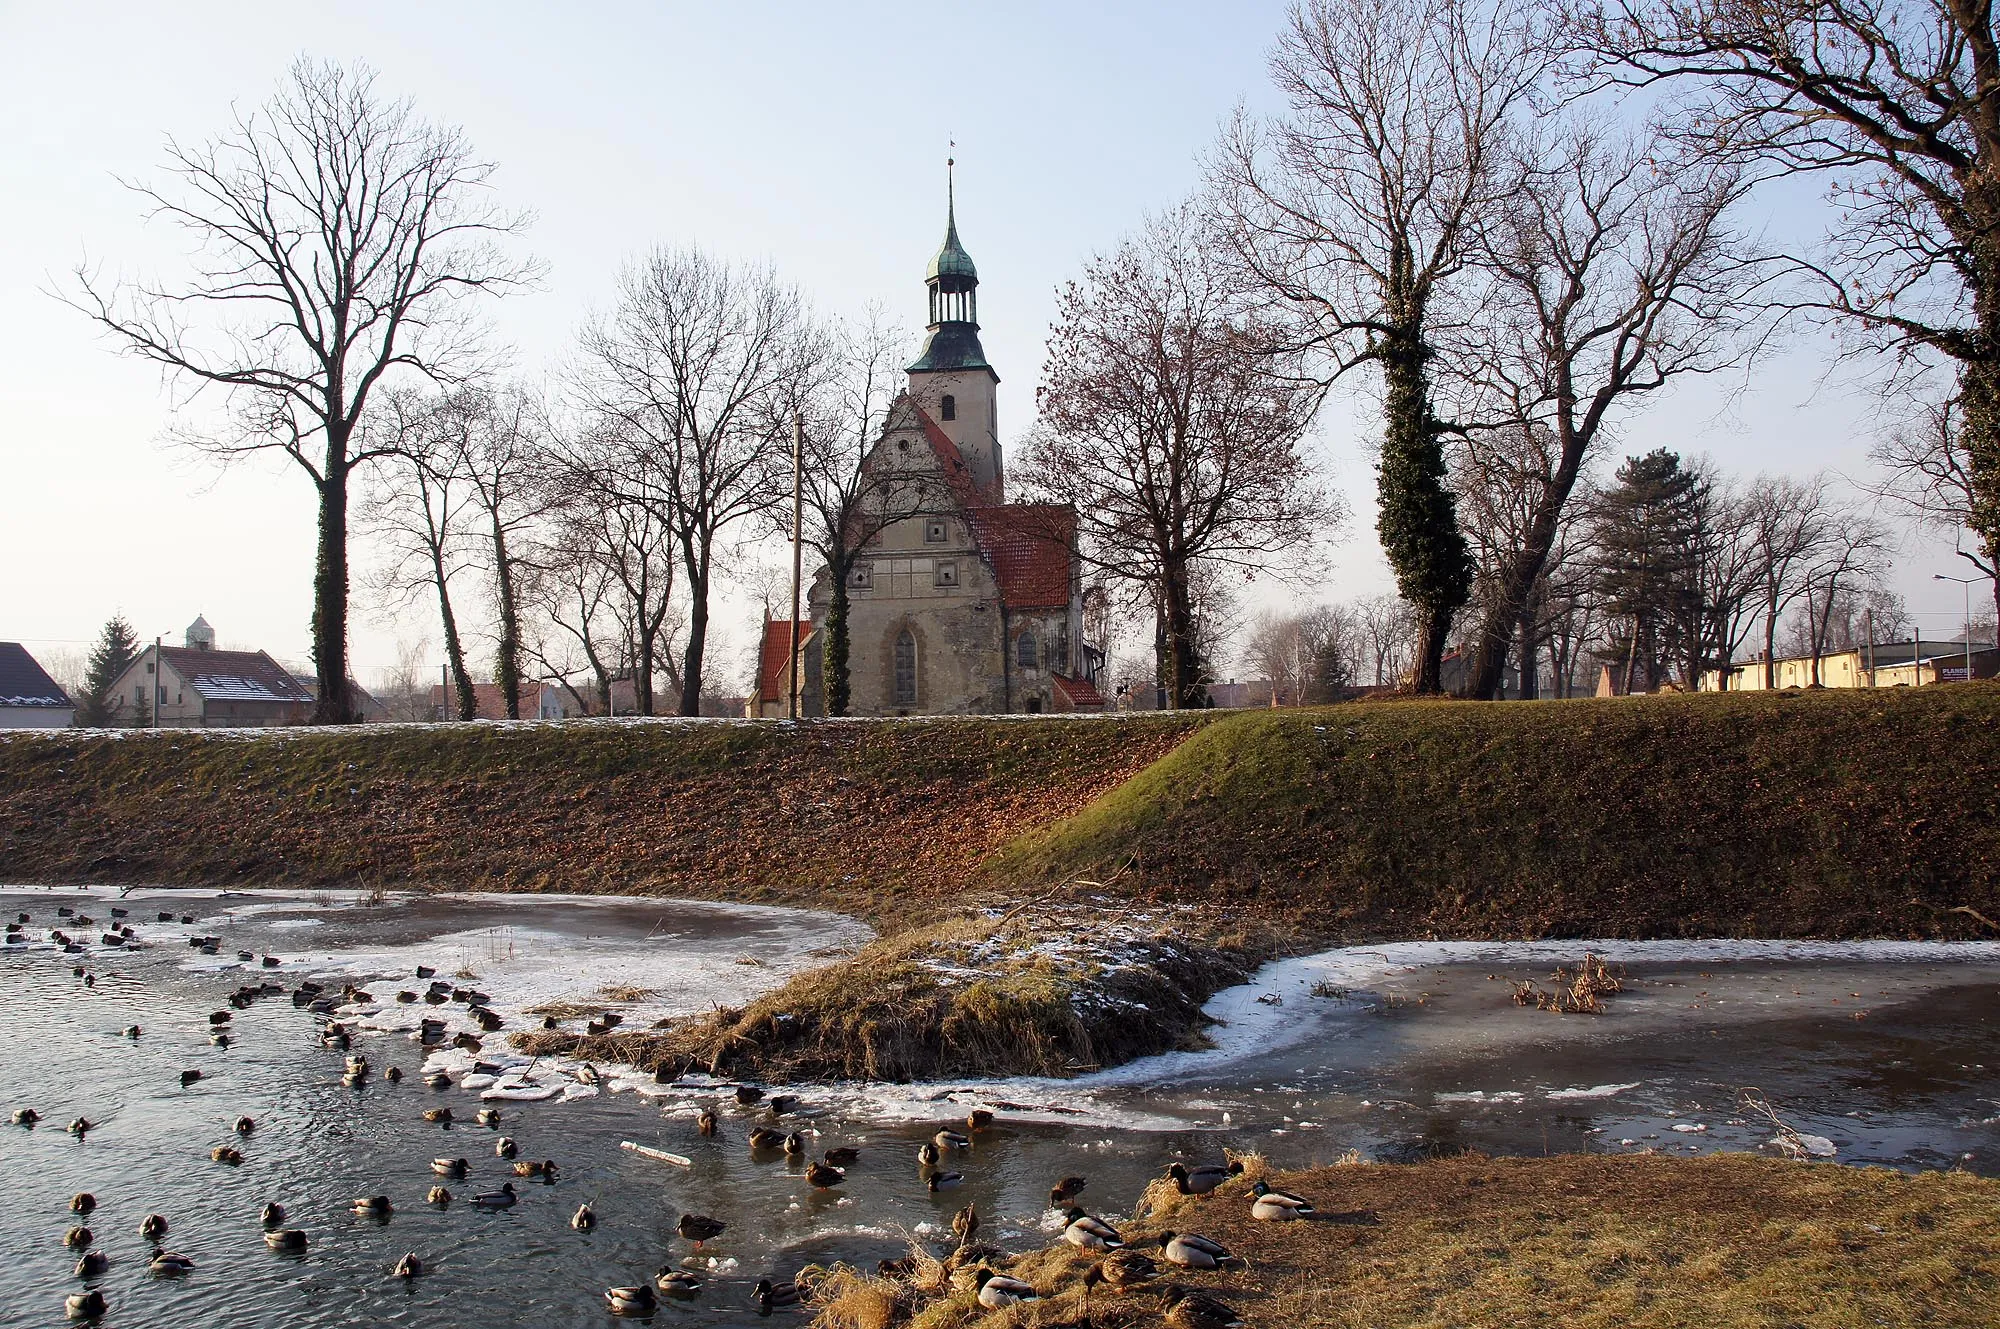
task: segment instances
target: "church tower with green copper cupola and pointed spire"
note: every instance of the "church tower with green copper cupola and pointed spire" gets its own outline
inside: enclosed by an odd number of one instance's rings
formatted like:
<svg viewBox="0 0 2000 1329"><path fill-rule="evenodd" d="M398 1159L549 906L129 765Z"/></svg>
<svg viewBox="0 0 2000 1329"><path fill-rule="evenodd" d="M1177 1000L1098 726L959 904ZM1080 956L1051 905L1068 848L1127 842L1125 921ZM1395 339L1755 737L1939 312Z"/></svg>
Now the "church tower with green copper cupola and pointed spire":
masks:
<svg viewBox="0 0 2000 1329"><path fill-rule="evenodd" d="M1004 502L1006 472L1000 464L1000 374L980 346L980 272L958 242L958 200L952 172L944 170L944 244L930 260L930 340L910 366L910 396L958 444L972 482L988 502Z"/></svg>

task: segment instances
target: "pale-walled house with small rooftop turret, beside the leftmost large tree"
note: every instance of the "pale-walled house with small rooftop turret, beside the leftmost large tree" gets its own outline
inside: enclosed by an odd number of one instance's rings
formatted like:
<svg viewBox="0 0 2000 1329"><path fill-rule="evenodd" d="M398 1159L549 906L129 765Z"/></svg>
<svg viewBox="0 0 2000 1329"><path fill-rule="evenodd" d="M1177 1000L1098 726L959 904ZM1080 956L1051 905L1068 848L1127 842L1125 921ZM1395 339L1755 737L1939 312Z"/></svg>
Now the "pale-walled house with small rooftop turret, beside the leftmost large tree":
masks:
<svg viewBox="0 0 2000 1329"><path fill-rule="evenodd" d="M180 646L146 646L112 685L132 721L160 729L260 729L306 725L312 691L262 650L216 650L216 630L196 616Z"/></svg>

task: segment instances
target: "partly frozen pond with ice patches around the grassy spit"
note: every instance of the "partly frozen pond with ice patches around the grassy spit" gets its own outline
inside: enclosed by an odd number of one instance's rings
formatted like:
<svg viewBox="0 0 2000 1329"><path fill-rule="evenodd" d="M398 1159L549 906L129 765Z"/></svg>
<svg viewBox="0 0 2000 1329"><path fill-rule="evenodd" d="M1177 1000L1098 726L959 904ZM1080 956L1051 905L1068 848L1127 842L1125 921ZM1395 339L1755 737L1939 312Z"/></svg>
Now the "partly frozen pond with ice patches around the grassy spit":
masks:
<svg viewBox="0 0 2000 1329"><path fill-rule="evenodd" d="M70 907L96 921L58 917ZM144 943L114 951L100 935L126 909ZM158 913L174 915L158 923ZM1512 1005L1510 981L1546 981L1592 943L1436 943L1330 953L1268 967L1212 1003L1228 1023L1218 1051L1160 1057L1082 1081L922 1087L804 1087L786 1129L810 1131L814 1151L858 1145L848 1183L814 1191L782 1155L752 1159L744 1135L768 1123L724 1087L654 1085L608 1075L582 1085L574 1067L522 1067L504 1033L478 1053L430 1055L448 1089L428 1089L408 1027L424 1015L470 1031L464 1003L396 1003L438 979L492 997L506 1029L532 1027L526 1009L628 997L626 1027L674 1013L736 1005L800 967L866 941L860 925L804 911L656 899L354 897L130 891L0 891L0 917L28 913L26 945L0 953L0 1109L36 1107L34 1131L0 1125L0 1323L66 1323L62 1297L82 1283L60 1245L68 1197L92 1191L88 1225L110 1267L96 1279L106 1325L604 1325L602 1289L642 1281L662 1265L710 1275L704 1297L660 1311L658 1323L760 1323L758 1277L790 1277L806 1261L872 1265L898 1255L906 1233L936 1237L974 1201L1002 1243L1040 1243L1048 1185L1090 1177L1086 1201L1128 1211L1148 1177L1176 1157L1258 1149L1280 1165L1330 1161L1348 1149L1412 1159L1462 1149L1712 1151L1766 1147L1768 1121L1740 1095L1756 1089L1788 1123L1824 1135L1842 1161L1968 1167L2000 1173L2000 947L1802 943L1602 943L1626 991L1604 1015L1554 1015ZM182 913L194 923L182 925ZM64 927L88 953L48 941ZM188 937L220 937L216 955ZM238 961L248 951L252 961ZM278 961L266 969L262 957ZM84 967L84 985L72 969ZM476 975L454 979L454 975ZM212 1011L244 983L296 987L314 977L338 993L366 987L354 1021L374 1075L342 1085L342 1053L322 1047L324 1017L288 997L234 1011L228 1047L210 1043ZM140 1025L142 1035L122 1031ZM568 1027L578 1027L572 1021ZM474 1061L498 1087L546 1101L498 1103L498 1131L472 1125ZM388 1083L388 1067L404 1071ZM180 1083L182 1071L202 1079ZM474 1085L490 1091L486 1079ZM724 1103L722 1139L694 1129L702 1105ZM932 1195L916 1145L972 1105L1000 1107L996 1129L954 1163L958 1191ZM454 1125L422 1121L452 1107ZM96 1123L82 1141L64 1123ZM230 1123L258 1129L238 1141ZM494 1155L498 1135L522 1159L556 1159L552 1185L514 1179ZM622 1151L620 1141L688 1155L692 1169ZM240 1143L238 1167L210 1149ZM466 1157L470 1177L444 1181L454 1203L424 1193L434 1157ZM480 1213L476 1191L516 1181L520 1203ZM360 1195L388 1195L386 1221L350 1213ZM278 1201L310 1249L274 1255L258 1209ZM590 1233L570 1215L588 1201ZM694 1257L674 1235L698 1211L728 1231ZM138 1223L168 1215L168 1249L196 1261L176 1281L146 1273ZM388 1277L404 1253L420 1279Z"/></svg>

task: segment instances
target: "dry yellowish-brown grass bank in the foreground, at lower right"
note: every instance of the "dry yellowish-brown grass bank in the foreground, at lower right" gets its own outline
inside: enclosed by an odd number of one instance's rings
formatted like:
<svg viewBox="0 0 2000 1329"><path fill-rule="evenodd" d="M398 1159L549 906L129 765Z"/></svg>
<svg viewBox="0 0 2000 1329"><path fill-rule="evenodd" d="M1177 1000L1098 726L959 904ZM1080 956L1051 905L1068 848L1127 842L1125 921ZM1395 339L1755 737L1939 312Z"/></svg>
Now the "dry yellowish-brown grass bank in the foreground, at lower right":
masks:
<svg viewBox="0 0 2000 1329"><path fill-rule="evenodd" d="M1968 1173L1560 1155L1346 1163L1270 1181L1314 1223L1250 1219L1250 1171L1204 1199L1154 1183L1124 1229L1222 1241L1248 1269L1170 1271L1254 1325L1298 1329L1858 1329L1990 1325L2000 1301L2000 1181ZM1156 1251L1154 1251L1156 1253ZM1094 1257L1066 1243L992 1267L1046 1299L984 1311L974 1261L912 1281L836 1275L816 1329L1122 1329L1166 1323L1160 1285L1082 1299ZM836 1301L838 1297L838 1301Z"/></svg>

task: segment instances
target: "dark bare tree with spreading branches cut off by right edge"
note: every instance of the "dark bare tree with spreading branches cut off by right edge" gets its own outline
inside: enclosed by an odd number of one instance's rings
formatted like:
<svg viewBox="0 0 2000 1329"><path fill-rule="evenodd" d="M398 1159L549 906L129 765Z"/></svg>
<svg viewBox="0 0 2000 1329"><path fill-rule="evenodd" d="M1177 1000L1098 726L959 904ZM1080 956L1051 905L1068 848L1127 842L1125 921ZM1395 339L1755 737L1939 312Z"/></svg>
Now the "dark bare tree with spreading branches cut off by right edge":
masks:
<svg viewBox="0 0 2000 1329"><path fill-rule="evenodd" d="M2000 560L2000 32L1972 0L1584 0L1612 80L1682 92L1688 136L1824 174L1838 220L1788 304L1904 370L1950 362L1966 524Z"/></svg>

